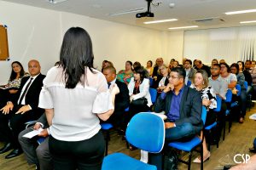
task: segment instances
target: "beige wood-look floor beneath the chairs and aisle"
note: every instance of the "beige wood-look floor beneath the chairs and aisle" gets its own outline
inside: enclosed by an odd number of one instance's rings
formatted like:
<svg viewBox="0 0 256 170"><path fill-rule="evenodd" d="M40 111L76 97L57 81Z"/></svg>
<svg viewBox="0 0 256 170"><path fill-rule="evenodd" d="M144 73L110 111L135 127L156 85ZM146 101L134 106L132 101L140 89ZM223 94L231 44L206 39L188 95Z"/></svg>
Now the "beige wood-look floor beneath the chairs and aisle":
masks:
<svg viewBox="0 0 256 170"><path fill-rule="evenodd" d="M248 148L252 147L253 139L256 137L256 122L249 120L248 116L256 112L256 106L251 111L247 111L247 118L243 124L233 123L231 132L226 134L226 139L220 141L218 149L216 145L211 147L211 157L209 161L204 163L204 169L222 169L224 165L235 164L233 157L236 154L249 154ZM3 144L0 143L0 147ZM121 139L117 133L111 133L111 140L109 142L108 153L123 152L127 155L138 158L140 152L138 150L130 151L126 149L125 141ZM8 153L0 155L0 170L31 170L35 169L34 166L28 166L24 157L21 156L6 160L4 156ZM193 158L198 153L194 152ZM237 159L239 161L239 159ZM183 164L179 165L179 169L187 169ZM192 170L200 169L197 164L192 164ZM256 169L256 167L255 167Z"/></svg>

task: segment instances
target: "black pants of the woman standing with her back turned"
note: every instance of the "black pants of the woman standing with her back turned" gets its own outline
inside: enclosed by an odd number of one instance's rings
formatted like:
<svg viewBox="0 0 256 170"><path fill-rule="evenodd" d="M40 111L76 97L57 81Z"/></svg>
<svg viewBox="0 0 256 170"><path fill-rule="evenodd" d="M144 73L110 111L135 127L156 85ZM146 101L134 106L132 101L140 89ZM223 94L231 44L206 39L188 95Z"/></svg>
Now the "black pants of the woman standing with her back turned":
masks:
<svg viewBox="0 0 256 170"><path fill-rule="evenodd" d="M105 142L102 132L90 139L68 142L49 137L55 170L101 170Z"/></svg>

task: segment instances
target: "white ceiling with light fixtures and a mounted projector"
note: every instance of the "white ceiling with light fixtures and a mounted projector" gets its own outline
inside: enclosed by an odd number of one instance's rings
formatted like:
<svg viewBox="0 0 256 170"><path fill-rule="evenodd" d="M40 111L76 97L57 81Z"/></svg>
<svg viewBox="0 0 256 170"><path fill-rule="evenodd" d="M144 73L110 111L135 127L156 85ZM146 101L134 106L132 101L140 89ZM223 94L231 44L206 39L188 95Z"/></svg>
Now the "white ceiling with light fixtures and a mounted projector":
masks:
<svg viewBox="0 0 256 170"><path fill-rule="evenodd" d="M145 0L67 0L63 3L51 4L46 0L5 0L12 3L22 3L39 8L49 8L57 11L65 11L74 14L82 14L101 20L110 20L132 26L142 26L161 31L168 31L169 27L192 26L207 29L241 25L240 21L256 20L256 13L226 15L225 12L256 8L256 0L154 0L153 3L161 2L158 7L151 5L154 18L137 19L132 14L109 16L108 14L127 11L134 8L147 8ZM173 8L170 3L175 3ZM217 17L217 19L195 23L191 20ZM161 24L145 25L145 20L165 20L175 18L177 21ZM220 21L222 19L224 21ZM246 26L252 26L247 24ZM254 23L254 25L256 25Z"/></svg>

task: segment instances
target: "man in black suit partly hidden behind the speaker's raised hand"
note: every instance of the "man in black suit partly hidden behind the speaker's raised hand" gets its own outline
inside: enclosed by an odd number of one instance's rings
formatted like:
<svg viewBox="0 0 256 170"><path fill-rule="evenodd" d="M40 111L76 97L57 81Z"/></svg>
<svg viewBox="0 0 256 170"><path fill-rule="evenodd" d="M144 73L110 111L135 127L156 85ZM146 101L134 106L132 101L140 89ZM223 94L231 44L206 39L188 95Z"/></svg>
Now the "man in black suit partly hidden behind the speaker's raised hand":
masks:
<svg viewBox="0 0 256 170"><path fill-rule="evenodd" d="M119 94L116 94L114 101L114 112L109 117L108 122L113 124L113 127L117 129L123 129L124 125L124 114L125 109L130 104L129 90L124 82L119 82L116 79L116 70L113 66L108 66L103 69L103 75L106 77L108 82L108 88L111 88L114 83L119 87ZM123 129L124 130L124 129Z"/></svg>

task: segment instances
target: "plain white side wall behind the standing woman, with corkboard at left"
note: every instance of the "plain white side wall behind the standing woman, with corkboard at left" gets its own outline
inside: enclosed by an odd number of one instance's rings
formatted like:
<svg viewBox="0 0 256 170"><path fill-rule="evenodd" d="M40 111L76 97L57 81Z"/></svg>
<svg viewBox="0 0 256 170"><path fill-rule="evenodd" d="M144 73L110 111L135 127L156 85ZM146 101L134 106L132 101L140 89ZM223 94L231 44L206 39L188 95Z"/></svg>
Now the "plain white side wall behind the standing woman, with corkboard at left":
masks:
<svg viewBox="0 0 256 170"><path fill-rule="evenodd" d="M15 60L27 71L27 62L38 59L42 73L46 74L59 60L63 34L71 26L80 26L89 32L98 68L103 59L113 61L117 70L124 69L128 59L143 65L157 57L163 57L166 63L174 56L182 59L183 32L154 31L3 1L0 1L0 16L0 24L8 26L10 54L9 61L0 61L0 84L8 81L10 64Z"/></svg>

